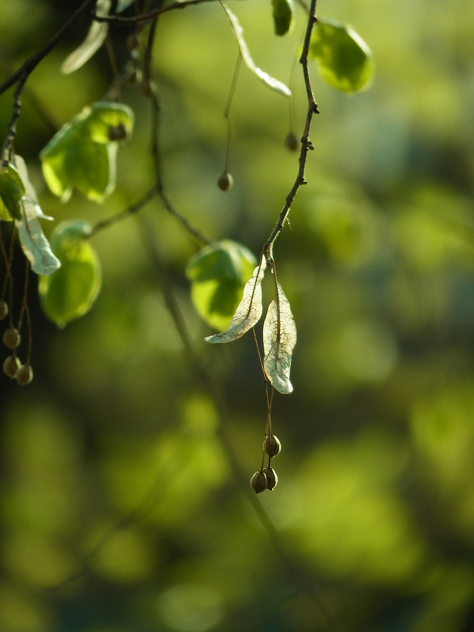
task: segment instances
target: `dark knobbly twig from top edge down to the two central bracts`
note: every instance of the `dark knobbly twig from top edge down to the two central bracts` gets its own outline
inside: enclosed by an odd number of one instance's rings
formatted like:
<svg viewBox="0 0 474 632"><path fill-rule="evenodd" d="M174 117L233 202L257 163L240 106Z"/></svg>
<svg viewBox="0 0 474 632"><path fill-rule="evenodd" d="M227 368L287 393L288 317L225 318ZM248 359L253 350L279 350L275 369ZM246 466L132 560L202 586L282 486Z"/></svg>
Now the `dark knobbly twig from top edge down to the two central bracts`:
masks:
<svg viewBox="0 0 474 632"><path fill-rule="evenodd" d="M269 258L270 260L272 260L273 258L274 242L278 234L280 233L280 231L283 230L283 226L285 222L288 221L289 209L291 207L291 204L293 204L293 200L295 199L296 191L298 191L301 185L306 184L305 166L306 166L308 150L314 149L313 144L309 139L310 127L311 127L313 114L319 114L319 110L318 110L318 106L315 101L313 90L311 87L310 75L309 75L309 70L308 70L308 51L310 48L310 39L311 39L313 26L315 25L315 22L317 21L316 10L317 10L317 0L311 0L310 15L308 16L308 23L307 23L307 28L305 32L305 40L303 42L303 50L301 51L301 57L300 57L300 64L301 66L303 66L303 76L305 79L305 87L306 87L307 100L308 100L308 111L306 115L305 128L303 130L303 135L301 137L301 150L300 150L300 157L298 159L298 164L299 164L298 174L296 175L294 185L291 187L291 190L286 196L286 202L278 217L278 221L276 222L275 228L273 229L269 238L265 242L264 252L267 253L267 258Z"/></svg>

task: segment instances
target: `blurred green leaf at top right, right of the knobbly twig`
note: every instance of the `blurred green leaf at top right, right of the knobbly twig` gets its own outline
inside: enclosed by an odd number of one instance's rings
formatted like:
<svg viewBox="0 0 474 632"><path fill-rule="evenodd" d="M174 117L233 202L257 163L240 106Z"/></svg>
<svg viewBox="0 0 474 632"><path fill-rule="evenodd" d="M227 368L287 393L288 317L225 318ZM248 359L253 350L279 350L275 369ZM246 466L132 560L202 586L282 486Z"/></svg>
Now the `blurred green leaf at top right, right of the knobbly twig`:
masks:
<svg viewBox="0 0 474 632"><path fill-rule="evenodd" d="M372 83L372 52L348 25L318 19L311 35L309 58L318 61L324 81L342 92L362 92Z"/></svg>

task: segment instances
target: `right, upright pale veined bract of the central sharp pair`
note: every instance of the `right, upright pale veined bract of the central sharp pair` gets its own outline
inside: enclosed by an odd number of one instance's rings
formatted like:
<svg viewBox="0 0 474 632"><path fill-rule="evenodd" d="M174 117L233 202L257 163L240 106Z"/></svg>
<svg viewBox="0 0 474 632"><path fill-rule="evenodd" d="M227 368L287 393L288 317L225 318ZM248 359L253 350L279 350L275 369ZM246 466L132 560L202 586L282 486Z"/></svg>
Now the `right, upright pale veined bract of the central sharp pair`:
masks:
<svg viewBox="0 0 474 632"><path fill-rule="evenodd" d="M270 303L264 321L264 369L272 386L288 394L293 391L289 381L291 356L296 344L296 325L288 298L277 283L277 296Z"/></svg>

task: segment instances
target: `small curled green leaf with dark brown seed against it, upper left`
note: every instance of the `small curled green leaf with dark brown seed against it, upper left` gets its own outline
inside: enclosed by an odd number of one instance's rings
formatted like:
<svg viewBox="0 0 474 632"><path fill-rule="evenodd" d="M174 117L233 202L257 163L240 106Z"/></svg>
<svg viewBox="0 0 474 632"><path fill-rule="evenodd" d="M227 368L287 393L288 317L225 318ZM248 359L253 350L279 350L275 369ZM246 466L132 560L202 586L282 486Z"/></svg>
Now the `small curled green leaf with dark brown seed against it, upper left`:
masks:
<svg viewBox="0 0 474 632"><path fill-rule="evenodd" d="M98 101L90 108L85 108L83 112L87 112L87 116L82 119L82 133L88 135L95 143L130 138L135 117L133 110L123 103ZM115 136L121 133L121 137L111 138L111 128Z"/></svg>

